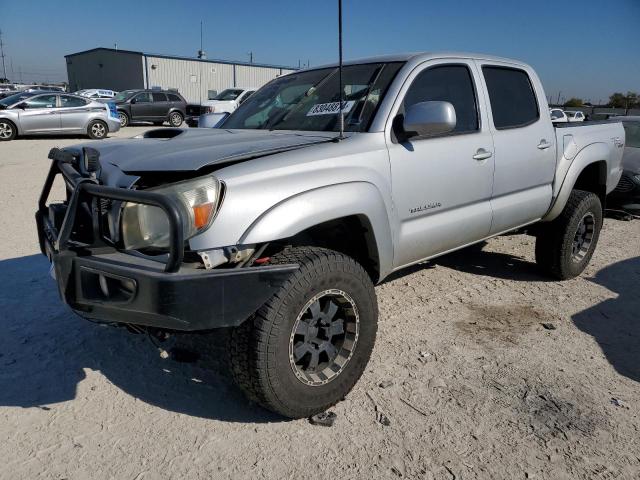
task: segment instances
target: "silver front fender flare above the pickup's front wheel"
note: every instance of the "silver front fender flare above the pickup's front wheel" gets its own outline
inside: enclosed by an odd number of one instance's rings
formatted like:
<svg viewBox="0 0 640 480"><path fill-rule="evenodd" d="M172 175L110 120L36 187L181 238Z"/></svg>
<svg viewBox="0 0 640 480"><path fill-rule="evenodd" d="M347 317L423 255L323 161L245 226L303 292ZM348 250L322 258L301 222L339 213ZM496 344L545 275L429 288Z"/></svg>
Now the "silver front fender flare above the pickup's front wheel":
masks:
<svg viewBox="0 0 640 480"><path fill-rule="evenodd" d="M315 225L351 215L364 216L371 225L382 280L392 270L393 240L382 195L368 182L340 183L289 197L260 215L239 243L289 238Z"/></svg>

